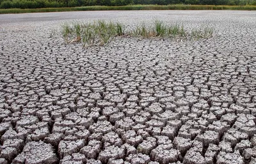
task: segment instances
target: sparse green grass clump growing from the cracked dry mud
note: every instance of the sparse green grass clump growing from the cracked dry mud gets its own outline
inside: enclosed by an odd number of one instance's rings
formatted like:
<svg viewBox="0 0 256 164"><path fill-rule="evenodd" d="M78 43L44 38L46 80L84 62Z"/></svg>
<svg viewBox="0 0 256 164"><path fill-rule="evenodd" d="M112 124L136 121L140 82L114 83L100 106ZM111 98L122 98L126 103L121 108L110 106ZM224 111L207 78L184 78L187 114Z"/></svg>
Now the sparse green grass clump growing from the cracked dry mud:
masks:
<svg viewBox="0 0 256 164"><path fill-rule="evenodd" d="M168 26L164 22L156 20L152 26L140 24L134 29L127 30L124 24L119 22L106 22L98 20L90 23L74 23L63 26L63 38L65 43L83 43L83 47L95 45L104 46L113 38L140 37L140 38L170 38L173 40L200 40L211 38L213 29L202 27L186 31L184 26L178 24Z"/></svg>

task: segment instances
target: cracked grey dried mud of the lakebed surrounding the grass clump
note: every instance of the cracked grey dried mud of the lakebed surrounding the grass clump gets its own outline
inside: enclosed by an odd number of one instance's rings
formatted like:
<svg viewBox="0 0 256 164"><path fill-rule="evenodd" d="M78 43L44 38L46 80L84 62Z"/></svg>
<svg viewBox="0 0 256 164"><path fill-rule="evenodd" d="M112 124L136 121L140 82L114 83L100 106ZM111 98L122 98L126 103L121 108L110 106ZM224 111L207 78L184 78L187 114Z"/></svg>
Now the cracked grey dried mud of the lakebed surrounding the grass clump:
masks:
<svg viewBox="0 0 256 164"><path fill-rule="evenodd" d="M65 45L61 25L214 27ZM256 163L255 11L0 15L0 163Z"/></svg>

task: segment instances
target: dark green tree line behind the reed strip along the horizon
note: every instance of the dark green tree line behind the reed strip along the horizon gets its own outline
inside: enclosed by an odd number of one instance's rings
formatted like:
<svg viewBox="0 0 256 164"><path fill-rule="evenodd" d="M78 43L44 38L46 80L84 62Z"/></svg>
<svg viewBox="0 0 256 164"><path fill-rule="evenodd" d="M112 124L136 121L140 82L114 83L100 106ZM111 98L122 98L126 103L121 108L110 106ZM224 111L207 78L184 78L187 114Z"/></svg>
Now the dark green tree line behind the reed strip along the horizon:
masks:
<svg viewBox="0 0 256 164"><path fill-rule="evenodd" d="M0 0L0 8L62 8L129 4L256 5L256 0Z"/></svg>

